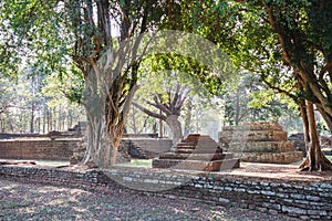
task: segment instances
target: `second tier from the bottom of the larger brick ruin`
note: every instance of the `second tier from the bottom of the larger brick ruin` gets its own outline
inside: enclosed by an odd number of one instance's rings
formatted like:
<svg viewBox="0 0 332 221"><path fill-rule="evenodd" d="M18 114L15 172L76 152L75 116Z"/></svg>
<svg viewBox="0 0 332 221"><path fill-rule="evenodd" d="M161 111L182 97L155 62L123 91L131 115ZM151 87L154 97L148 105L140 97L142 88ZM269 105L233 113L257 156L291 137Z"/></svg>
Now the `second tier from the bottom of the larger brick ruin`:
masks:
<svg viewBox="0 0 332 221"><path fill-rule="evenodd" d="M230 143L222 148L230 152L287 152L294 151L292 141L247 141Z"/></svg>

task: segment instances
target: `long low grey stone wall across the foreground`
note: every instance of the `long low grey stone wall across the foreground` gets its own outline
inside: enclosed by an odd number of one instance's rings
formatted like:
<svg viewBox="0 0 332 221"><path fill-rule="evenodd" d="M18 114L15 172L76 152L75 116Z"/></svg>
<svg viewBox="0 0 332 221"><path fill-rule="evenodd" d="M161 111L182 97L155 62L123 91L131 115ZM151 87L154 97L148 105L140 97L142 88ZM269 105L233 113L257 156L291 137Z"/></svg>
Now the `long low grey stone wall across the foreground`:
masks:
<svg viewBox="0 0 332 221"><path fill-rule="evenodd" d="M122 183L124 187L135 188L129 191L136 193L239 206L271 214L286 213L303 220L330 220L332 218L332 181L268 180L222 173L185 175L170 170L137 168L76 172L13 166L1 166L0 177L79 188L103 188L103 191ZM147 191L146 188L165 190Z"/></svg>

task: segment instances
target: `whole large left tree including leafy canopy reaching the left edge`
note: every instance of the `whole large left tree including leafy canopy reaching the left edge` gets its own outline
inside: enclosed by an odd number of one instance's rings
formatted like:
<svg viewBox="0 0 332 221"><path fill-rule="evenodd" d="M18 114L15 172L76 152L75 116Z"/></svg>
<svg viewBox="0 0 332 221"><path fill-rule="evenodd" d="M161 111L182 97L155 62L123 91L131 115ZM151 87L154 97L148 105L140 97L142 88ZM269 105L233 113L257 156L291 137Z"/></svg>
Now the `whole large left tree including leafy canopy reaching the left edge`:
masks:
<svg viewBox="0 0 332 221"><path fill-rule="evenodd" d="M138 76L139 34L157 27L159 1L2 1L1 70L22 63L60 75L74 64L84 80L81 103L89 120L84 164L115 164ZM23 59L24 57L24 59Z"/></svg>

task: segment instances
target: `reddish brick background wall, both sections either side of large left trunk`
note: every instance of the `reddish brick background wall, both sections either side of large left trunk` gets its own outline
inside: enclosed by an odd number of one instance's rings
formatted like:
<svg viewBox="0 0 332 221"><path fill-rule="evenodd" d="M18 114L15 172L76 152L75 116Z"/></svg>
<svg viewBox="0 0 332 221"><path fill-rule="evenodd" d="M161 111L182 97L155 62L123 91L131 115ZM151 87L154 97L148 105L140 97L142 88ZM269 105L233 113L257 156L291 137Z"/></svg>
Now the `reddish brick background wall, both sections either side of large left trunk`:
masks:
<svg viewBox="0 0 332 221"><path fill-rule="evenodd" d="M170 139L123 138L120 151L126 159L131 157L151 159L169 150L170 146ZM70 160L72 158L71 164L77 164L84 157L84 154L82 138L25 137L0 139L0 159Z"/></svg>

